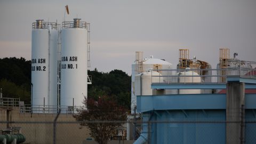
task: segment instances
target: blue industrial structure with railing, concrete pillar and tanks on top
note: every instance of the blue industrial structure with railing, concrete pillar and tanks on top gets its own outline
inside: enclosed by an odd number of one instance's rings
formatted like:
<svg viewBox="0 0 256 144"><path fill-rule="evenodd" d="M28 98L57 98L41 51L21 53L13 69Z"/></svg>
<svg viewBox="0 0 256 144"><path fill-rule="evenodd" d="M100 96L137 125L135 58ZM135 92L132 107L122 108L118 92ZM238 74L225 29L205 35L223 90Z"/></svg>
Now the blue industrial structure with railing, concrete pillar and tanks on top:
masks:
<svg viewBox="0 0 256 144"><path fill-rule="evenodd" d="M163 94L135 95L142 130L134 143L255 143L256 62L220 49L211 69L188 53L180 50L177 69L151 70L150 92Z"/></svg>

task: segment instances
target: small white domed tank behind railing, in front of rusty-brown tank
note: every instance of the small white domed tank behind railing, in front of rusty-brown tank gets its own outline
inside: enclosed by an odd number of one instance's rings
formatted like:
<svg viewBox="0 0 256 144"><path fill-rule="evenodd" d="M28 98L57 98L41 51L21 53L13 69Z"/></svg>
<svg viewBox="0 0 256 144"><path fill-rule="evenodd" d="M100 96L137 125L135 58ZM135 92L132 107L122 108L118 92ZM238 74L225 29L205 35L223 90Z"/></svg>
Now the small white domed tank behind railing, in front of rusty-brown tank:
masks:
<svg viewBox="0 0 256 144"><path fill-rule="evenodd" d="M188 71L182 71L178 73L179 75L179 83L201 83L201 77L194 71L189 70L190 68L186 68ZM199 94L201 93L200 89L180 89L178 91L179 94Z"/></svg>

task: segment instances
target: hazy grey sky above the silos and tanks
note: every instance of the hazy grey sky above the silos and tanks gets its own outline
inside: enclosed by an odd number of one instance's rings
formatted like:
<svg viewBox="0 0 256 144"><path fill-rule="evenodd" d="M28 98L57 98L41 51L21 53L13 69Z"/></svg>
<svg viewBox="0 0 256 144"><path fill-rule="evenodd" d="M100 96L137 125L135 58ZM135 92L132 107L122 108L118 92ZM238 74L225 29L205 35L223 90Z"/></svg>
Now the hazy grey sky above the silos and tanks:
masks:
<svg viewBox="0 0 256 144"><path fill-rule="evenodd" d="M179 49L190 58L219 60L230 56L256 61L256 1L12 1L0 0L0 58L31 59L31 23L36 19L91 23L91 69L121 69L131 74L135 51L177 65Z"/></svg>

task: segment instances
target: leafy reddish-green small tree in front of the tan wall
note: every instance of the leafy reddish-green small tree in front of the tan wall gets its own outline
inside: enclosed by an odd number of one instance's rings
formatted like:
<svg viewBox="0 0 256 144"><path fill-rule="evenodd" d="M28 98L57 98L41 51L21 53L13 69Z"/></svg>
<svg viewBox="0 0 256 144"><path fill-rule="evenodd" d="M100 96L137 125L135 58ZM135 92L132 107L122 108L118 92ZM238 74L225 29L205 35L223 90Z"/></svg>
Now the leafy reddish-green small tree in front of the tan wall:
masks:
<svg viewBox="0 0 256 144"><path fill-rule="evenodd" d="M77 121L90 121L90 123L83 122L81 125L89 127L90 135L95 141L99 144L106 144L114 134L114 130L122 125L120 121L125 121L126 110L106 96L100 97L99 101L85 99L84 104L87 106L87 110L80 111L74 117Z"/></svg>

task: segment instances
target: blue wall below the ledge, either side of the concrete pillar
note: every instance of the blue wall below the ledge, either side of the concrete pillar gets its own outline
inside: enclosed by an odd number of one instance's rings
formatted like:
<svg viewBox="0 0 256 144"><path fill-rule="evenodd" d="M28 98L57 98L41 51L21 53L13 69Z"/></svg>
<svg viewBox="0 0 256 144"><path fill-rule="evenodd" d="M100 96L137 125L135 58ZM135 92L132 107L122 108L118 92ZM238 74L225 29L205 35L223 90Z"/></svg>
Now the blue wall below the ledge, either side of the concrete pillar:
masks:
<svg viewBox="0 0 256 144"><path fill-rule="evenodd" d="M149 127L150 143L226 143L225 109L155 110L146 113L153 115L150 119L152 124ZM256 121L252 109L246 109L245 121ZM255 135L256 124L246 123L245 143L256 143Z"/></svg>

